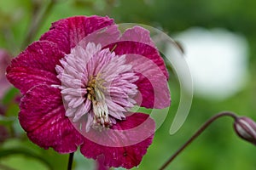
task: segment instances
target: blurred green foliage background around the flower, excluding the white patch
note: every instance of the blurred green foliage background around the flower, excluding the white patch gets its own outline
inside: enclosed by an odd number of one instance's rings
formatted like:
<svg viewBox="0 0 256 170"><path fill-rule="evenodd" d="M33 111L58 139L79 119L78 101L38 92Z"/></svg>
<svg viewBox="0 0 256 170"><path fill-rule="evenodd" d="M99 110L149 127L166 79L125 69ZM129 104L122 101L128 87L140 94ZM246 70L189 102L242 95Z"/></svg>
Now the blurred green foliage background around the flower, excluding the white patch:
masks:
<svg viewBox="0 0 256 170"><path fill-rule="evenodd" d="M45 8L49 9L46 13L44 13ZM236 90L236 93L221 99L195 93L189 116L183 127L174 135L169 134L169 129L179 104L180 86L175 71L170 68L172 106L166 121L156 132L148 153L137 167L145 170L158 169L203 122L219 111L234 111L238 115L250 116L256 120L255 8L256 1L253 0L0 1L0 48L15 56L26 47L27 43L38 40L38 37L47 31L50 23L55 20L73 15L92 14L108 15L116 23L154 26L171 37L176 37L177 34L195 26L207 30L222 28L243 37L248 44L247 81L243 83L242 88ZM38 16L43 17L38 25L38 31L35 30L34 37L27 37L28 32L31 31L29 28L35 24L34 20L37 20ZM203 50L203 47L199 50ZM186 52L185 46L184 51ZM218 79L218 77L212 78ZM67 155L59 155L51 149L43 150L26 138L17 121L19 108L14 99L16 95L19 95L17 90L10 88L1 99L5 116L1 116L0 123L9 134L4 135L7 139L0 140L0 169L66 169ZM256 149L253 144L236 137L232 123L228 117L214 122L167 169L255 170ZM74 169L94 169L95 162L86 160L78 151L73 166Z"/></svg>

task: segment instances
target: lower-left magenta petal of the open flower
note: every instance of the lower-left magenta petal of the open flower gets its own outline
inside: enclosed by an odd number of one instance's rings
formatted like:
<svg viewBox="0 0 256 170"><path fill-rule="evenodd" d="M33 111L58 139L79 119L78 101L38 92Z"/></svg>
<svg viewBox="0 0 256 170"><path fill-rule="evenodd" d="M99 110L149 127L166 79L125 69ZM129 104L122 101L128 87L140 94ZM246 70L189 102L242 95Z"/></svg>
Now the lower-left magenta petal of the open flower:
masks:
<svg viewBox="0 0 256 170"><path fill-rule="evenodd" d="M65 116L58 88L38 85L29 90L21 99L19 120L29 139L44 149L70 153L83 143L83 136Z"/></svg>

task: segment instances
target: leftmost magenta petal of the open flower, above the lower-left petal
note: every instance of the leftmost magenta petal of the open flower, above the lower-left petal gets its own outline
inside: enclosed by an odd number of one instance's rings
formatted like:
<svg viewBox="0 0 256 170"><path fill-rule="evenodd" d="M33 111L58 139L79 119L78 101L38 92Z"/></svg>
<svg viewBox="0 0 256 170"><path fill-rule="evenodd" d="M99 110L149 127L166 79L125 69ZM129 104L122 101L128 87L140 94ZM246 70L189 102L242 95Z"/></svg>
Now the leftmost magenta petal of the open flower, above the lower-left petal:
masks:
<svg viewBox="0 0 256 170"><path fill-rule="evenodd" d="M22 94L38 84L60 84L55 65L60 65L64 54L52 42L33 42L12 60L7 78Z"/></svg>

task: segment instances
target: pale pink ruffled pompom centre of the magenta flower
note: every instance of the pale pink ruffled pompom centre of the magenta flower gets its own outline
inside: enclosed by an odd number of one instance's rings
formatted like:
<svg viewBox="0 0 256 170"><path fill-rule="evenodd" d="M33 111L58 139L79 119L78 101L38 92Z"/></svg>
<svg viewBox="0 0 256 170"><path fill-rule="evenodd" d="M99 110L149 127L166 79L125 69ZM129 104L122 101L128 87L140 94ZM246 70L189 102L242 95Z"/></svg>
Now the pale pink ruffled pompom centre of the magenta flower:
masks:
<svg viewBox="0 0 256 170"><path fill-rule="evenodd" d="M66 116L73 122L100 129L124 120L136 104L138 77L127 64L125 55L89 42L77 45L61 59L55 69L61 80L61 94Z"/></svg>

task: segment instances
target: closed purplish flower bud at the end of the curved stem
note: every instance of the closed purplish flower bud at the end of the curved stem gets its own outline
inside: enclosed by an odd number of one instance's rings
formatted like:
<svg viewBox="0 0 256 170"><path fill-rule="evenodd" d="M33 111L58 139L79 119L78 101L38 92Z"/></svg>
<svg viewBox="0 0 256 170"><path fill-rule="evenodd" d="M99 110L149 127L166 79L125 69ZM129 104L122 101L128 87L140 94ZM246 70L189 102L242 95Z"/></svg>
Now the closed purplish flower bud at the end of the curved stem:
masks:
<svg viewBox="0 0 256 170"><path fill-rule="evenodd" d="M248 117L238 117L234 123L238 136L252 144L256 144L256 122Z"/></svg>

